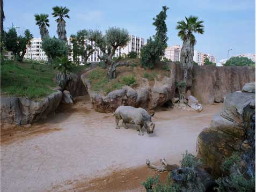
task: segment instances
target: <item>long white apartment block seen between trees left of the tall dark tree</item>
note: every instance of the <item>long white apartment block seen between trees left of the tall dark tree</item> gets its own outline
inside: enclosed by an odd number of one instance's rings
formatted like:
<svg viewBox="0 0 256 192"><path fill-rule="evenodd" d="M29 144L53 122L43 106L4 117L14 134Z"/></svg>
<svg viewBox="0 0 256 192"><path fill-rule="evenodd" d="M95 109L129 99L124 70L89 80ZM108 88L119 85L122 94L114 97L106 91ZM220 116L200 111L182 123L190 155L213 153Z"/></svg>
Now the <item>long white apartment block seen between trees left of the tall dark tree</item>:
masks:
<svg viewBox="0 0 256 192"><path fill-rule="evenodd" d="M71 46L72 48L72 43L70 42L70 38L67 38L68 45ZM45 60L47 61L48 58L45 54L45 52L42 50L41 46L41 38L35 38L31 41L31 45L27 46L27 52L24 56L24 58L32 59L32 60ZM87 45L92 45L94 48L94 52L91 54L91 56L88 58L88 62L99 62L99 57L98 53L101 56L103 53L97 48L94 47L94 42L86 40ZM119 57L123 53L128 54L131 51L135 51L137 54L140 54L141 48L144 46L144 39L139 38L138 36L135 35L130 35L130 41L128 42L127 46L125 47L118 47L115 51L114 57ZM70 61L73 61L72 53L69 56ZM79 61L82 61L82 57L79 56Z"/></svg>

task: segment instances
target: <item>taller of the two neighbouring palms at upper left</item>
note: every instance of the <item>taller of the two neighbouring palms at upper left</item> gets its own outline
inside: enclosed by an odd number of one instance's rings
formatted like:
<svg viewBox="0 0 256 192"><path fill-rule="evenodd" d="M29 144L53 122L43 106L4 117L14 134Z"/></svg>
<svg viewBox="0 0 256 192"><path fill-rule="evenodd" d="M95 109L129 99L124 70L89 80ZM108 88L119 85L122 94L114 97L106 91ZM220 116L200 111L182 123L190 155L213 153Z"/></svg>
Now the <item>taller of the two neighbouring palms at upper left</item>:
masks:
<svg viewBox="0 0 256 192"><path fill-rule="evenodd" d="M55 6L53 8L53 17L58 17L55 21L57 21L57 34L58 34L58 39L67 41L67 32L65 29L66 26L66 21L64 20L65 17L70 18L68 15L69 9L64 6Z"/></svg>

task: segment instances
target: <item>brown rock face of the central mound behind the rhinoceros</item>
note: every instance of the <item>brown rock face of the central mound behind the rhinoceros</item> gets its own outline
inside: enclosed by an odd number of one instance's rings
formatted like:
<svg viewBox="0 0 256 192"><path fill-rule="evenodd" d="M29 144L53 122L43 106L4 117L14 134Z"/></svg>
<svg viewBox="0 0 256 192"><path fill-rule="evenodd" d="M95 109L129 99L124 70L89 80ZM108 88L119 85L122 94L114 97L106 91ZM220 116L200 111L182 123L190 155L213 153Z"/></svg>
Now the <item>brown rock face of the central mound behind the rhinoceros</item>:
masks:
<svg viewBox="0 0 256 192"><path fill-rule="evenodd" d="M133 107L143 107L151 110L157 106L162 106L165 102L171 100L175 94L175 76L164 77L162 81L155 82L150 87L146 78L143 78L142 84L133 89L129 86L122 87L121 90L115 90L106 96L98 94L92 90L89 79L83 74L81 79L87 87L92 105L98 112L114 112L121 105Z"/></svg>

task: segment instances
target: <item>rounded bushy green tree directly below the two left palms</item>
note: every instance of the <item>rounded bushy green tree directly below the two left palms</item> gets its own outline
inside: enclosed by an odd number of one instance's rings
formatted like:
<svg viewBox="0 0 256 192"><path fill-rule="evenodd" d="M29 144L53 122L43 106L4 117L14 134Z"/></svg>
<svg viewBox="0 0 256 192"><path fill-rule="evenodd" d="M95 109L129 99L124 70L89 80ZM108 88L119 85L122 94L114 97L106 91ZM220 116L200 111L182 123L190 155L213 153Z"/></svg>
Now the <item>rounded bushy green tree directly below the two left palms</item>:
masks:
<svg viewBox="0 0 256 192"><path fill-rule="evenodd" d="M61 57L63 55L68 55L70 47L67 42L55 38L45 38L42 41L42 49L48 56L48 63L52 64L52 60L56 57Z"/></svg>

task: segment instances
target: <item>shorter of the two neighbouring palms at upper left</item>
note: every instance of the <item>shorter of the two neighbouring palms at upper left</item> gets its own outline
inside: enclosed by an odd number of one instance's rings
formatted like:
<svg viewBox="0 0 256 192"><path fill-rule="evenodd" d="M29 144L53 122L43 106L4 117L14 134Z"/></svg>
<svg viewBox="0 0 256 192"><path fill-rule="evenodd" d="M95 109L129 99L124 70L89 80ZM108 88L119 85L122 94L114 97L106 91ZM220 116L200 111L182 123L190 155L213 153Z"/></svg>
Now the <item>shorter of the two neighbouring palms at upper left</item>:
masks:
<svg viewBox="0 0 256 192"><path fill-rule="evenodd" d="M41 39L49 36L47 27L49 27L49 15L48 14L34 14L36 25L39 26Z"/></svg>

